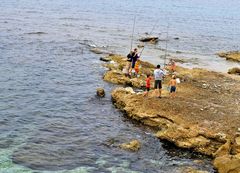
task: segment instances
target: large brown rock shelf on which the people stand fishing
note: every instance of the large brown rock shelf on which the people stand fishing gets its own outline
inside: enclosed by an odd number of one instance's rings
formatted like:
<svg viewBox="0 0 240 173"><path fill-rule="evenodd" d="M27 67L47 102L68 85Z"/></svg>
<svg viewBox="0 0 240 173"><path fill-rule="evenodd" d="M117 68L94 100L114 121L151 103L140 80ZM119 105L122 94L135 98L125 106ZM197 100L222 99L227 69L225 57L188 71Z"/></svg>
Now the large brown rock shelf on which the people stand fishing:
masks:
<svg viewBox="0 0 240 173"><path fill-rule="evenodd" d="M140 77L128 78L122 73L125 58L119 55L107 57L104 64L109 70L104 80L141 89L147 73L154 65L141 61ZM168 140L181 148L187 148L214 158L219 173L240 171L240 78L204 69L177 67L181 79L177 97L171 99L163 90L161 99L148 97L132 88L112 91L114 105L127 116L144 125L156 127L156 137ZM163 86L169 81L165 78ZM153 86L153 85L152 85Z"/></svg>

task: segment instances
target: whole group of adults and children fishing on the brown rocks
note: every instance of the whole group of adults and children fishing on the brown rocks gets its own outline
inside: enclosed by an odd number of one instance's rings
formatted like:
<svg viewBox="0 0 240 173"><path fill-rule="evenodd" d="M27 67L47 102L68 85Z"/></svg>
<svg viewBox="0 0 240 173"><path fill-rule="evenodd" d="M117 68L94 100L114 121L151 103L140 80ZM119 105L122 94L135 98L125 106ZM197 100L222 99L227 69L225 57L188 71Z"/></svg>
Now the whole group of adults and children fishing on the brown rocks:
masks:
<svg viewBox="0 0 240 173"><path fill-rule="evenodd" d="M128 76L131 76L133 70L136 74L138 74L139 63L137 63L137 62L139 62L138 61L139 58L140 58L140 56L137 52L137 48L135 48L133 51L131 51L127 55L127 66L126 66L125 70L126 70L126 74ZM176 63L174 62L174 60L170 59L169 63L165 67L165 69L168 70L171 73L174 73L175 70L176 70ZM154 76L155 95L158 98L161 98L161 95L162 95L162 81L163 81L165 75L166 75L165 71L161 69L160 65L157 65L156 69L153 72L153 76ZM152 80L151 75L147 74L146 91L144 93L144 96L147 96L148 92L150 91L151 80ZM176 75L173 74L172 77L171 77L171 80L168 83L168 88L169 88L169 93L170 93L171 98L174 98L176 96L176 87L177 87Z"/></svg>

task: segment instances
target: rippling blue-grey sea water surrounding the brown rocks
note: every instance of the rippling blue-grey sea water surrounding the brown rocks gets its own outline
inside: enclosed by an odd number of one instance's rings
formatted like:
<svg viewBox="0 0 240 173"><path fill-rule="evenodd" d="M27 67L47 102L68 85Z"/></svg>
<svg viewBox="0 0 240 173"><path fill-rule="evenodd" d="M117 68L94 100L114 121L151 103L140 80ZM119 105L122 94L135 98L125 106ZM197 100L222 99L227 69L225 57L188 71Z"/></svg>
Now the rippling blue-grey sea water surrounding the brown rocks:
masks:
<svg viewBox="0 0 240 173"><path fill-rule="evenodd" d="M0 172L213 172L208 159L169 150L151 130L111 104L113 85L88 44L127 54L157 21L154 34L169 50L196 58L188 66L224 71L237 63L214 57L239 45L237 1L2 1L0 4ZM231 7L232 10L229 10ZM179 40L172 38L179 37ZM147 45L143 59L162 63L165 42ZM216 66L217 64L217 66ZM218 68L220 67L220 68ZM95 97L97 87L107 96ZM139 139L137 153L116 145ZM157 154L156 154L157 153ZM180 156L178 156L180 155ZM201 160L201 159L200 159Z"/></svg>

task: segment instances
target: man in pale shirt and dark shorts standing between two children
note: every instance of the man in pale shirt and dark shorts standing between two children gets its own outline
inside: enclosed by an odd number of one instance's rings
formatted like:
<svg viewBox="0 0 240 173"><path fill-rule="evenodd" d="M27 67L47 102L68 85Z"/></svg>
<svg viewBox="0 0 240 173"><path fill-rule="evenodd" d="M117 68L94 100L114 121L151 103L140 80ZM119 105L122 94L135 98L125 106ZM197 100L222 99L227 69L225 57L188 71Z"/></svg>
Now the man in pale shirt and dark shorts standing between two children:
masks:
<svg viewBox="0 0 240 173"><path fill-rule="evenodd" d="M154 89L155 89L155 94L158 98L161 98L162 94L162 80L163 77L165 76L164 71L160 68L161 66L158 64L157 68L154 70Z"/></svg>

